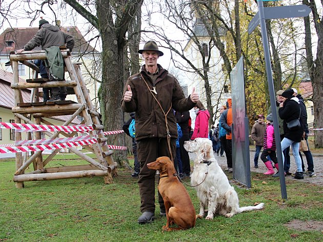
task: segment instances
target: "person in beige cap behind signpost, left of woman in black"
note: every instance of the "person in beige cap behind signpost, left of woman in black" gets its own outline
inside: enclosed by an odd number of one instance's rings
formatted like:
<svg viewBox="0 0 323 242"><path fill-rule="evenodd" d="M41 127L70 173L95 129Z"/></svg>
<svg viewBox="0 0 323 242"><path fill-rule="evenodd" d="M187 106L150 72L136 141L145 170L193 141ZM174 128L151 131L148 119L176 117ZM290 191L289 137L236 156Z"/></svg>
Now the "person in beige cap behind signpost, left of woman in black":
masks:
<svg viewBox="0 0 323 242"><path fill-rule="evenodd" d="M279 109L279 104L281 104L283 102L283 97L281 96L281 94L284 92L284 90L278 90L276 92L276 110L278 113L278 109ZM269 106L268 109L268 113L272 113L272 109L271 106ZM279 134L280 134L280 140L282 140L284 138L284 120L282 120L279 115L278 115L278 125L279 125ZM291 157L289 155L289 147L287 147L284 150L284 158L285 158L285 163L284 163L284 170L286 175L291 175L292 173L289 172L289 168L291 166ZM273 175L273 177L278 177L279 173L277 172L276 174Z"/></svg>

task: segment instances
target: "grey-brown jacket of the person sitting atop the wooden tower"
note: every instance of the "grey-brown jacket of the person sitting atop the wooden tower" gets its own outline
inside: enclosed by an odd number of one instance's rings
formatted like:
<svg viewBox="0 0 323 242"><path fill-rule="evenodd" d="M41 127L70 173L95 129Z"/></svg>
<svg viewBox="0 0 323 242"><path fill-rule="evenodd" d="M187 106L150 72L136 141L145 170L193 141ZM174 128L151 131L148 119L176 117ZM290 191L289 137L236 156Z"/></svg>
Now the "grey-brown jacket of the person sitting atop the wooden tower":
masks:
<svg viewBox="0 0 323 242"><path fill-rule="evenodd" d="M36 46L42 46L42 49L45 50L52 46L59 47L65 44L72 52L74 47L74 37L60 31L57 26L44 24L42 25L42 28L37 31L34 37L24 46L24 50L32 50Z"/></svg>

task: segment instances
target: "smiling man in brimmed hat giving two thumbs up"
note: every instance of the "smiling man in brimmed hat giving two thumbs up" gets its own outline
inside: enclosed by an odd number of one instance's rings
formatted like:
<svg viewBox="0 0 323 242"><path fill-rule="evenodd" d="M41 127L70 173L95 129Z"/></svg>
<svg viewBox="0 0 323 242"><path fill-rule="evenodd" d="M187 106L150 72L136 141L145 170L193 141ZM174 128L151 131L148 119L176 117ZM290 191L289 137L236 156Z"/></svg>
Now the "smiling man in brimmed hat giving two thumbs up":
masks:
<svg viewBox="0 0 323 242"><path fill-rule="evenodd" d="M122 109L135 114L135 139L140 163L139 194L141 199L139 224L151 223L155 216L155 171L147 167L160 156L175 158L178 112L189 111L199 100L195 88L186 98L177 79L157 64L164 53L154 41L138 50L145 60L142 70L130 76L124 88ZM163 197L158 192L160 215L166 215Z"/></svg>

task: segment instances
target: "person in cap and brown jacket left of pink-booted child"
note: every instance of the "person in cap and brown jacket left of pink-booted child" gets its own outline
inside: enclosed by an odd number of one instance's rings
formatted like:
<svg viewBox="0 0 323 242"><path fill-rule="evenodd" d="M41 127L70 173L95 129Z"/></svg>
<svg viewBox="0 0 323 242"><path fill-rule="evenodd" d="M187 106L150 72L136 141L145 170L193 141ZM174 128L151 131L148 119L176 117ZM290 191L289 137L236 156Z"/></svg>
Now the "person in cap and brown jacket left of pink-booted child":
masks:
<svg viewBox="0 0 323 242"><path fill-rule="evenodd" d="M264 121L265 121L265 116L263 114L259 114L258 120L252 126L252 129L251 129L251 139L255 142L255 146L256 146L255 157L253 159L255 168L258 168L259 153L261 151L261 148L263 148L263 145L264 145L264 134L266 131L266 125Z"/></svg>

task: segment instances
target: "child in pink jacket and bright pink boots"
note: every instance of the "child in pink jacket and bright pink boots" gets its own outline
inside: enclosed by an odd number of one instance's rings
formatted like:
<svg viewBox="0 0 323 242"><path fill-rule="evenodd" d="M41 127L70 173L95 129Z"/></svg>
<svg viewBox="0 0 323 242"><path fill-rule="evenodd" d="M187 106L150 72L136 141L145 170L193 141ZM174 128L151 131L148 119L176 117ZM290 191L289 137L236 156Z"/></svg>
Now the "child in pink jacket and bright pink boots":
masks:
<svg viewBox="0 0 323 242"><path fill-rule="evenodd" d="M277 156L276 156L276 142L275 142L275 134L274 134L274 127L273 127L273 117L270 113L266 117L266 123L267 128L264 134L264 150L263 153L261 153L260 159L263 160L266 167L268 168L268 171L265 172L265 175L272 175L274 174L274 169L271 164L271 161L267 159L267 156L271 158L271 160L274 162L276 169L278 170L278 162L277 162Z"/></svg>

